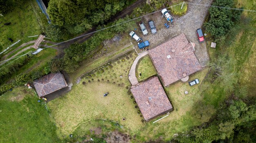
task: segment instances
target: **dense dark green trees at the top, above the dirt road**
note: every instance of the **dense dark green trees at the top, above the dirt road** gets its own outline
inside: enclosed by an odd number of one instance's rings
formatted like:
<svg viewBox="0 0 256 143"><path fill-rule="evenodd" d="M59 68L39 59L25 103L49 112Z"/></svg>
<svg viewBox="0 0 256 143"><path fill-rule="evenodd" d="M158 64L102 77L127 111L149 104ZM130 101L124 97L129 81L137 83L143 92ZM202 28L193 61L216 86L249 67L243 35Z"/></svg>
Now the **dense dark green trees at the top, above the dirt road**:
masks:
<svg viewBox="0 0 256 143"><path fill-rule="evenodd" d="M121 11L135 0L50 0L47 13L52 24L47 27L47 35L58 41L77 35L98 24L104 24L111 16Z"/></svg>

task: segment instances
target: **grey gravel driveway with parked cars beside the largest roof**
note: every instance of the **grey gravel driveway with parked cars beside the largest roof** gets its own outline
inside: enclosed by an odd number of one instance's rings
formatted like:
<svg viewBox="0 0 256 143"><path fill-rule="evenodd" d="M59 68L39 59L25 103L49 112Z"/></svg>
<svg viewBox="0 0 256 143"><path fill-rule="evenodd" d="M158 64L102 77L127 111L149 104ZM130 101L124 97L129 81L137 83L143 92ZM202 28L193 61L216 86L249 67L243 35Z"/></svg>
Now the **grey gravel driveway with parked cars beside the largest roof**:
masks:
<svg viewBox="0 0 256 143"><path fill-rule="evenodd" d="M188 2L210 5L212 0L189 0ZM195 43L195 55L197 56L202 67L204 67L207 66L207 63L209 62L209 57L207 54L205 42L198 42L196 30L202 26L208 9L209 7L188 4L188 11L185 15L181 17L173 16L174 22L170 25L169 29L166 29L164 26L164 23L166 23L167 20L162 17L161 12L158 12L144 17L141 20L141 22L143 21L146 24L148 35L142 35L142 32L139 32L139 30L135 32L140 37L142 37L143 40L148 40L150 42L149 48L154 48L155 46L164 43L166 40L180 35L181 33L184 33L189 41ZM153 20L155 22L157 28L156 34L151 33L148 25L149 20ZM132 43L134 43L134 45L137 45L135 40L132 40ZM139 50L139 48L136 48L136 50L138 51L138 53L143 52L143 50Z"/></svg>

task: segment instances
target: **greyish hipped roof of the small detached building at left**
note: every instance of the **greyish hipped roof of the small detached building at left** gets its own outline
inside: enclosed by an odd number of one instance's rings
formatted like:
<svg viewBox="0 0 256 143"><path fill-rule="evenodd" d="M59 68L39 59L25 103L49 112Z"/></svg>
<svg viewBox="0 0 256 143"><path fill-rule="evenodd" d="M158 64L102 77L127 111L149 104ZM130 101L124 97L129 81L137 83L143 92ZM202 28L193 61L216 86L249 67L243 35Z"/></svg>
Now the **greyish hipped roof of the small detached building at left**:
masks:
<svg viewBox="0 0 256 143"><path fill-rule="evenodd" d="M65 78L60 72L40 77L34 80L33 84L39 97L67 87Z"/></svg>

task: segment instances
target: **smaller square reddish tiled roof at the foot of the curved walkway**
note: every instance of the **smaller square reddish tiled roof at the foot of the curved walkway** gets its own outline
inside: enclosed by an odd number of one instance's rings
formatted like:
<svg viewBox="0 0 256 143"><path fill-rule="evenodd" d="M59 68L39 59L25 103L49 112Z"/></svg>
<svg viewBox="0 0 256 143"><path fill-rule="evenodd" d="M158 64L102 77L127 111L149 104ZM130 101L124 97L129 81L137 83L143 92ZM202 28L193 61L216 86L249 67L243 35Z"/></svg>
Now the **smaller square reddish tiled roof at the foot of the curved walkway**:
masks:
<svg viewBox="0 0 256 143"><path fill-rule="evenodd" d="M146 121L173 108L158 77L140 82L131 92Z"/></svg>

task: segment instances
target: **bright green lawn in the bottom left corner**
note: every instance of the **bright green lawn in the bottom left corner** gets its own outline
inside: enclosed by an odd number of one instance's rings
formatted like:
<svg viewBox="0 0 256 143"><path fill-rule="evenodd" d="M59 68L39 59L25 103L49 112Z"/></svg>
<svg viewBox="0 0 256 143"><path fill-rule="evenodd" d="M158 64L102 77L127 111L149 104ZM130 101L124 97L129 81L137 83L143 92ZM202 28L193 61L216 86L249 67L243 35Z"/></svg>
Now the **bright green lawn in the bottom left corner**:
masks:
<svg viewBox="0 0 256 143"><path fill-rule="evenodd" d="M0 97L1 143L58 142L56 126L33 90L13 88Z"/></svg>

